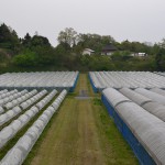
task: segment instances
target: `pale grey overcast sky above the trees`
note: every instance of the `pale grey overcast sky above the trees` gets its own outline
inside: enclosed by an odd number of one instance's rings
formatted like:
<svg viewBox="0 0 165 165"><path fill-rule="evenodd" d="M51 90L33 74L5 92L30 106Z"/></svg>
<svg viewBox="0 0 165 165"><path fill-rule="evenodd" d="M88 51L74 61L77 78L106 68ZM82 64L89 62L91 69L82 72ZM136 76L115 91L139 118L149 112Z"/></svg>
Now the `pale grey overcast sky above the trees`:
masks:
<svg viewBox="0 0 165 165"><path fill-rule="evenodd" d="M20 37L37 31L54 46L65 28L155 43L165 37L165 0L0 0L0 22Z"/></svg>

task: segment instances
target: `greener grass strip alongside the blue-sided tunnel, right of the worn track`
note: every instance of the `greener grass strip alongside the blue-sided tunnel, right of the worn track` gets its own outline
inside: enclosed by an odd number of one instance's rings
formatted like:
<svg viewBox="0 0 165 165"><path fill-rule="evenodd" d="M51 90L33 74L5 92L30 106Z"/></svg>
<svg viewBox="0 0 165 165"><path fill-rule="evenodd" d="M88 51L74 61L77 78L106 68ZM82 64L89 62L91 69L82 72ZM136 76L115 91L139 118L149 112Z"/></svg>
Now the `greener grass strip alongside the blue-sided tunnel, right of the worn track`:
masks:
<svg viewBox="0 0 165 165"><path fill-rule="evenodd" d="M99 138L105 150L107 164L138 165L139 162L129 144L117 129L114 121L110 118L101 99L92 100L96 110L96 124L99 130Z"/></svg>

